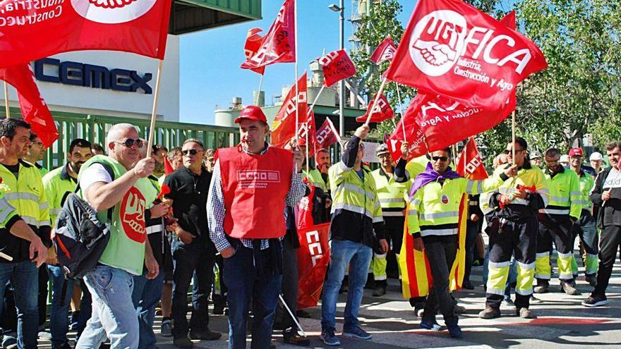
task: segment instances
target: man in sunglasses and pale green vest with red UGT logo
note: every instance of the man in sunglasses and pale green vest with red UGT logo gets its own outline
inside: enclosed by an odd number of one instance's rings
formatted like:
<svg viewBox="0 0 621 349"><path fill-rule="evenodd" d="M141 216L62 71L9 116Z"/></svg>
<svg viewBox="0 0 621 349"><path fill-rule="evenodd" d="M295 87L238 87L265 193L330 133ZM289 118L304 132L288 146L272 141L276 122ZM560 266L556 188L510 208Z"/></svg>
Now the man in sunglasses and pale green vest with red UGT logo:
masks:
<svg viewBox="0 0 621 349"><path fill-rule="evenodd" d="M159 273L152 250L146 248L145 208L154 198L147 179L155 169L152 158L140 159L143 140L129 123L113 125L107 135L109 156L86 161L78 174L80 195L108 221L112 209L110 240L99 263L84 280L92 296L92 317L76 348L99 348L108 337L112 348L138 348L139 325L132 306L133 276Z"/></svg>

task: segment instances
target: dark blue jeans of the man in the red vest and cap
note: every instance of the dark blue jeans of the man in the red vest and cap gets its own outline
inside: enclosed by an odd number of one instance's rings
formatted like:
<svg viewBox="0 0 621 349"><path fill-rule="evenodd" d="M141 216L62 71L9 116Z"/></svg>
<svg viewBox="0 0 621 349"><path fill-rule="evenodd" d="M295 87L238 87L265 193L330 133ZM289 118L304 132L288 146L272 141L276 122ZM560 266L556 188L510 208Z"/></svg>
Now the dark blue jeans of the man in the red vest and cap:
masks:
<svg viewBox="0 0 621 349"><path fill-rule="evenodd" d="M258 269L270 269L270 252L262 250L255 266L253 250L239 245L235 254L224 259L222 278L227 286L229 302L229 349L246 348L246 319L253 301L251 348L270 348L276 304L282 274L259 277ZM368 265L368 264L367 264Z"/></svg>

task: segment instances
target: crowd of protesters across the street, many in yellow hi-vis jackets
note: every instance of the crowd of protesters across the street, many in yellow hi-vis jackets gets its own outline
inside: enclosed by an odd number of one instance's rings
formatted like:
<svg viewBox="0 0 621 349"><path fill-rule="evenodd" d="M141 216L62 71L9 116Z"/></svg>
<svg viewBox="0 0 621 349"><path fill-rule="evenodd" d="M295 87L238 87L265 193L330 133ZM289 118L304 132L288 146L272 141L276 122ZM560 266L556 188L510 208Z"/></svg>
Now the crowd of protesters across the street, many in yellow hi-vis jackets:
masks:
<svg viewBox="0 0 621 349"><path fill-rule="evenodd" d="M581 148L542 155L526 140L508 141L486 180L469 180L452 167L451 149L426 157L392 159L385 145L380 167L363 163L367 125L356 129L331 163L319 149L306 164L306 145L270 147L270 128L257 106L241 111L241 144L205 149L188 139L181 147L147 142L128 123L113 125L106 144L71 142L66 161L47 172L43 143L19 119L0 121L0 302L3 348L37 348L46 323L48 287L52 348L156 348L160 333L178 348L193 340L216 341L212 314L227 314L229 348L270 348L272 332L285 343L308 345L297 327L296 231L301 200L312 202L313 224L330 222L330 265L321 295L320 339L339 345L336 308L347 293L342 336L370 339L358 322L363 288L385 295L387 278L400 278L396 259L404 226L414 249L426 251L433 284L428 295L410 298L420 326L443 327L462 337L450 271L459 248L459 206L468 195L466 271L483 264L483 319L500 317L502 304L533 318L534 296L553 290L550 257L557 250L560 291L577 295L581 262L593 292L582 304L604 305L608 280L621 245L621 143L593 153ZM563 159L566 157L566 159ZM566 160L566 162L565 162ZM164 173L166 163L173 172ZM164 190L164 188L166 188ZM54 231L68 195L76 192L109 226L109 240L84 278L66 277L54 247ZM484 247L481 233L489 237ZM579 238L579 253L574 253ZM372 272L370 272L372 271ZM191 315L188 321L188 290ZM514 297L512 298L512 290ZM282 305L279 305L282 301ZM131 306L133 305L133 306ZM251 324L251 325L249 325ZM73 338L72 338L73 339Z"/></svg>

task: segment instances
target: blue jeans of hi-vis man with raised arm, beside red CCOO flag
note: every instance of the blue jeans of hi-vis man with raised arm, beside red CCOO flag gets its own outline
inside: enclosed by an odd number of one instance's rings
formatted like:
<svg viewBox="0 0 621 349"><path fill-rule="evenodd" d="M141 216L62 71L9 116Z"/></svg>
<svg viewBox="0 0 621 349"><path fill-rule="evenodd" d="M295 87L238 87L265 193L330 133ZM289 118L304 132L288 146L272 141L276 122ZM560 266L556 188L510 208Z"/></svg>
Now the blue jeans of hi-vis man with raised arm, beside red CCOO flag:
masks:
<svg viewBox="0 0 621 349"><path fill-rule="evenodd" d="M373 257L371 247L349 240L332 240L330 247L330 269L323 283L321 300L321 329L334 329L339 288L349 265L349 290L345 305L343 329L358 326L358 310L362 302L363 288L368 276L368 266Z"/></svg>

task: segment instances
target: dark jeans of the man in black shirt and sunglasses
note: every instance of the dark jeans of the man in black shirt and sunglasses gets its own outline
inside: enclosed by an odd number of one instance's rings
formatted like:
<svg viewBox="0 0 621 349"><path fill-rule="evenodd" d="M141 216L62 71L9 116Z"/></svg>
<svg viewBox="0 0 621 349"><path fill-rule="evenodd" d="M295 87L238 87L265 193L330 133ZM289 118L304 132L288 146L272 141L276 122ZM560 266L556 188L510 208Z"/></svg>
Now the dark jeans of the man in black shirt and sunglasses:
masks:
<svg viewBox="0 0 621 349"><path fill-rule="evenodd" d="M202 240L195 239L188 245L173 240L173 286L172 286L172 335L187 336L188 330L205 331L209 326L209 294L213 283L215 255L207 250ZM192 292L192 315L188 325L188 288L196 271L198 287Z"/></svg>

